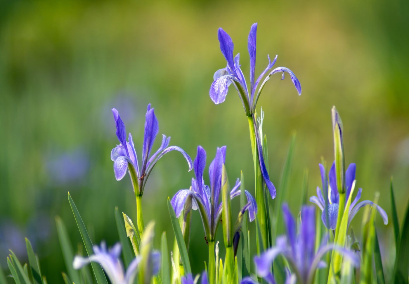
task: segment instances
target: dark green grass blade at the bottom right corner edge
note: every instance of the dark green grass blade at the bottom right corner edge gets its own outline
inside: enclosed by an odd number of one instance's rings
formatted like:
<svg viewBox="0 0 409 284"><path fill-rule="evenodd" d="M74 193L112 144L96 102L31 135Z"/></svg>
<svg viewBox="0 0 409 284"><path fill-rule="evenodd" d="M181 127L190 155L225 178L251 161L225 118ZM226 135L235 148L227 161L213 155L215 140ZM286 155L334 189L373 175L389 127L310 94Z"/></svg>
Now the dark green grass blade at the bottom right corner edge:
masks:
<svg viewBox="0 0 409 284"><path fill-rule="evenodd" d="M398 253L396 255L394 273L395 284L407 284L409 274L409 203L407 205L405 219L403 221Z"/></svg>

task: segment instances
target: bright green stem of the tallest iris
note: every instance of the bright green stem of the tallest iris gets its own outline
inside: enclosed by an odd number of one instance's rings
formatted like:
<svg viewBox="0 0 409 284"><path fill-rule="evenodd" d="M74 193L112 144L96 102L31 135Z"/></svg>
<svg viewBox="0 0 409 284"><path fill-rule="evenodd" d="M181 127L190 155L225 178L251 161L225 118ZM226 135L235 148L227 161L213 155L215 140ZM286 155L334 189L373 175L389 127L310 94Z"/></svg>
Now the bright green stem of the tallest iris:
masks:
<svg viewBox="0 0 409 284"><path fill-rule="evenodd" d="M257 220L261 231L261 242L259 244L258 238L256 238L257 254L260 254L261 247L265 248L267 244L267 216L265 215L265 200L263 194L263 177L261 175L260 163L258 162L258 151L256 144L256 130L254 129L254 117L248 116L249 129L250 129L250 141L252 144L253 161L254 161L254 179L256 183L256 203L257 203Z"/></svg>

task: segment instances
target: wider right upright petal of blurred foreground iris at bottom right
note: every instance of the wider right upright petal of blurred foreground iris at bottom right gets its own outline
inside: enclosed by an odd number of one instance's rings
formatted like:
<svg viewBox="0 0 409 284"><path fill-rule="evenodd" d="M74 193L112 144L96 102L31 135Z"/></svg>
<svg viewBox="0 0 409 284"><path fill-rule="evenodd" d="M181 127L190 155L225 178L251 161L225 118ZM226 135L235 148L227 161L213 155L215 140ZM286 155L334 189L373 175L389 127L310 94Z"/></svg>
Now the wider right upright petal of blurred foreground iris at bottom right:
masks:
<svg viewBox="0 0 409 284"><path fill-rule="evenodd" d="M301 209L301 243L303 246L304 276L307 276L315 254L315 208L303 206Z"/></svg>

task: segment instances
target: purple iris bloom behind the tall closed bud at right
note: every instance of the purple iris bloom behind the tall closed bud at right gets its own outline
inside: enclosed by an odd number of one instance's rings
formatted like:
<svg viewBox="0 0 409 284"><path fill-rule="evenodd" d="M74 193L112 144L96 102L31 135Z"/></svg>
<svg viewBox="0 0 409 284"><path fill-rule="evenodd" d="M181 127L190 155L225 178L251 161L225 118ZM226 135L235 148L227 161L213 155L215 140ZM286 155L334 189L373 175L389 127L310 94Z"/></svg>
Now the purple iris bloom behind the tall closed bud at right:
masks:
<svg viewBox="0 0 409 284"><path fill-rule="evenodd" d="M319 164L319 170L321 171L321 179L322 179L324 191L328 192L329 198L327 199L327 202L325 202L321 189L317 187L318 196L311 196L310 202L317 204L319 209L321 209L322 211L321 219L324 225L326 226L326 228L335 230L337 226L338 208L339 208L339 193L337 189L335 162L333 162L333 165L331 166L330 172L328 174L330 190L328 190L328 182L326 182L326 172L322 164ZM346 187L345 202L348 200L349 194L351 193L353 183L355 181L355 171L356 171L356 164L352 163L348 166L348 169L345 172L345 187ZM358 213L358 211L365 205L371 205L373 208L378 210L379 214L381 215L384 221L384 224L385 225L388 224L388 215L378 204L374 204L370 200L364 200L357 204L357 202L361 198L361 193L362 193L362 188L358 189L358 193L355 196L355 200L351 203L351 206L349 207L348 226L351 223L353 217L355 217L356 213ZM325 204L327 204L327 207ZM327 220L327 215L328 215L329 221Z"/></svg>

